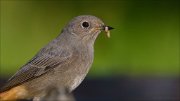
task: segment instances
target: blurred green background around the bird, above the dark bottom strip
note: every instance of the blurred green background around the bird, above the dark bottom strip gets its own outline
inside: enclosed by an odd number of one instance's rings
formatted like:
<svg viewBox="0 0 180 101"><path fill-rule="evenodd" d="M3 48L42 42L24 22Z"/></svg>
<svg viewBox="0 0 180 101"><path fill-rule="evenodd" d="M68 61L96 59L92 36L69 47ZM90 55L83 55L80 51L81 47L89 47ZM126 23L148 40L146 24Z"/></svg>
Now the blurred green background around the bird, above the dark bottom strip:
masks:
<svg viewBox="0 0 180 101"><path fill-rule="evenodd" d="M95 15L101 33L89 77L180 75L179 0L1 0L1 76L10 76L73 17Z"/></svg>

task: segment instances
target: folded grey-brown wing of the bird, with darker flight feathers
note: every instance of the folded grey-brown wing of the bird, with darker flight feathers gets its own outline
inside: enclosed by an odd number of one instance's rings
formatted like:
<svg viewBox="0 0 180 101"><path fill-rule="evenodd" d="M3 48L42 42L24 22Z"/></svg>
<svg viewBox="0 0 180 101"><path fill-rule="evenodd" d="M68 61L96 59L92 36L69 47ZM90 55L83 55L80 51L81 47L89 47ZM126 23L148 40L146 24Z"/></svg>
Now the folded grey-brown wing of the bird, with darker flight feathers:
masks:
<svg viewBox="0 0 180 101"><path fill-rule="evenodd" d="M0 92L9 90L17 85L44 75L55 67L60 67L61 65L66 64L70 61L71 57L72 53L65 50L58 54L56 54L56 52L53 53L52 51L40 55L37 54L8 80ZM63 66L60 68L63 68Z"/></svg>

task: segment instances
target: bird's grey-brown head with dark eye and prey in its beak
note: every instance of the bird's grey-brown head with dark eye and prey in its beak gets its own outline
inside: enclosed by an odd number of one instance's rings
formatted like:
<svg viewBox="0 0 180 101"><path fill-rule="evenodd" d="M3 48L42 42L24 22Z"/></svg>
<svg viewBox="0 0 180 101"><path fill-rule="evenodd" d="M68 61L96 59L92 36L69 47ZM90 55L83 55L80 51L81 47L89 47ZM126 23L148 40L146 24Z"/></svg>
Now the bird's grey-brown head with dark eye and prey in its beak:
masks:
<svg viewBox="0 0 180 101"><path fill-rule="evenodd" d="M91 15L82 15L73 18L65 27L69 34L86 42L94 42L101 31L105 31L110 37L109 30L112 27L106 26L102 20Z"/></svg>

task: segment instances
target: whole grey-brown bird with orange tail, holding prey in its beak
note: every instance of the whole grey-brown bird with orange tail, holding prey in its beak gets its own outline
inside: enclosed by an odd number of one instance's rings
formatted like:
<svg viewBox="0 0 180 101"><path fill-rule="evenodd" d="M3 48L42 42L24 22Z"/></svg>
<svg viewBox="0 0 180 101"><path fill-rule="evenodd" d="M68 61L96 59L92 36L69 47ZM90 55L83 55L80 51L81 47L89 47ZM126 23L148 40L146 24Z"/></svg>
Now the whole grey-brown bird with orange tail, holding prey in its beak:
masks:
<svg viewBox="0 0 180 101"><path fill-rule="evenodd" d="M93 63L96 38L102 31L110 37L111 29L93 15L74 17L5 83L0 100L42 98L48 87L72 92Z"/></svg>

